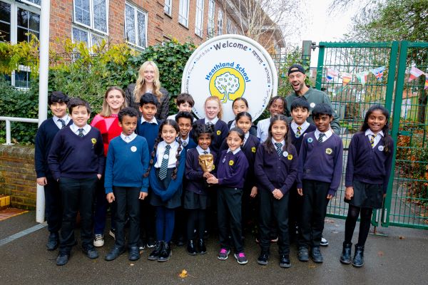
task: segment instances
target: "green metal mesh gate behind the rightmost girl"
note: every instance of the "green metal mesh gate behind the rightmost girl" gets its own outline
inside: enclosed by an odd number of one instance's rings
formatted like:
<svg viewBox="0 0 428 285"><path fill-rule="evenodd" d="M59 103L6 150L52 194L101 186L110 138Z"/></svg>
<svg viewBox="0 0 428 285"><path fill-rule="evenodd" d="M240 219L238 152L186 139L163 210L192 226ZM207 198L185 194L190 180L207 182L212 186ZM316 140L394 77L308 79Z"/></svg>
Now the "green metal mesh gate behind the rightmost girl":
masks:
<svg viewBox="0 0 428 285"><path fill-rule="evenodd" d="M367 109L378 103L392 110L391 134L398 148L384 207L374 212L372 223L428 229L425 77L407 83L411 66L427 71L427 52L428 43L406 41L320 43L316 88L330 95L333 108L342 119L344 145L342 187L329 204L330 217L344 219L347 215L347 205L343 202L347 147L352 135L360 130ZM379 69L384 69L382 75L375 72ZM357 79L357 75L364 79Z"/></svg>

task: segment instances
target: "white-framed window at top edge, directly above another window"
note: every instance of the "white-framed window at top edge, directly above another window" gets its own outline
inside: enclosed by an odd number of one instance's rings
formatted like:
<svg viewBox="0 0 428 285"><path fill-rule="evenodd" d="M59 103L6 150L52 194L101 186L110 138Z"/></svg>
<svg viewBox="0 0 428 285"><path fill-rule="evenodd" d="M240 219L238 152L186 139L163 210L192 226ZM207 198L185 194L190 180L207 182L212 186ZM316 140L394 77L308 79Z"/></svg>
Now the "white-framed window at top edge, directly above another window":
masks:
<svg viewBox="0 0 428 285"><path fill-rule="evenodd" d="M74 23L108 33L107 0L74 0Z"/></svg>

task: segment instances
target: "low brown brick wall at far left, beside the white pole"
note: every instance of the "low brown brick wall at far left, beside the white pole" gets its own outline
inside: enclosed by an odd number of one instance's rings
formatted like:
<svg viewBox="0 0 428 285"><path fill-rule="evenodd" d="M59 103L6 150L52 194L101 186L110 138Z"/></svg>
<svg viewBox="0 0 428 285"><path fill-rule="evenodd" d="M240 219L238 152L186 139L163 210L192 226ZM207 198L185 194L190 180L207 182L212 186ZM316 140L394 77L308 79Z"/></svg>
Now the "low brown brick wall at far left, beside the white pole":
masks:
<svg viewBox="0 0 428 285"><path fill-rule="evenodd" d="M11 206L36 208L34 147L0 145L0 195L11 196Z"/></svg>

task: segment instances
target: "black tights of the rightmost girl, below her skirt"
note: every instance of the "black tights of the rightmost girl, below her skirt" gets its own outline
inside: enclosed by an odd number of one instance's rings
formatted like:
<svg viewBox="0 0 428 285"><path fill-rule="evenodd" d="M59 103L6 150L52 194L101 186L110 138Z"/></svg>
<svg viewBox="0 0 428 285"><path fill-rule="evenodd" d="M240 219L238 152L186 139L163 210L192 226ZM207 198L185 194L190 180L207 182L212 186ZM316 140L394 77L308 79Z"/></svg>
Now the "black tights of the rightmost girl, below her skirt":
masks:
<svg viewBox="0 0 428 285"><path fill-rule="evenodd" d="M355 207L350 204L345 222L345 244L350 244L354 234L355 224L360 215L360 233L358 234L358 245L364 246L369 235L370 220L372 219L372 208Z"/></svg>

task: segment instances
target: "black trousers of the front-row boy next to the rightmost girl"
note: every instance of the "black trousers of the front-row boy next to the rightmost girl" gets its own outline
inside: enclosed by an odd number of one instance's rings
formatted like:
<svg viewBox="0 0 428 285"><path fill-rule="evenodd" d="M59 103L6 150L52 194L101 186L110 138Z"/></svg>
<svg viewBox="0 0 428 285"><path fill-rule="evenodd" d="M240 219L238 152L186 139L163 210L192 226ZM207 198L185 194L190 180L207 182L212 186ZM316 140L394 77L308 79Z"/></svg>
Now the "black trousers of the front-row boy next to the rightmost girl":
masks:
<svg viewBox="0 0 428 285"><path fill-rule="evenodd" d="M329 182L303 180L302 234L299 247L320 247L327 213Z"/></svg>

